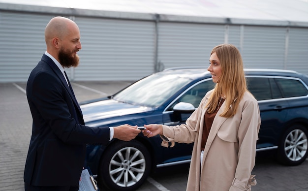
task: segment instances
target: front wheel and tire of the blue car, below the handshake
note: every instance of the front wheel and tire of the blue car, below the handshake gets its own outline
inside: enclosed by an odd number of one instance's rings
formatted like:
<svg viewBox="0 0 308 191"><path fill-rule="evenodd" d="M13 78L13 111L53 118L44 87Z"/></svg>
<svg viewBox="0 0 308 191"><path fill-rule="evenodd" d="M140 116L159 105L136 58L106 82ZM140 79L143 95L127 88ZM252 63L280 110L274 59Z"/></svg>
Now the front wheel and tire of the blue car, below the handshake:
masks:
<svg viewBox="0 0 308 191"><path fill-rule="evenodd" d="M115 141L101 156L98 181L112 191L134 191L151 171L151 156L139 141Z"/></svg>

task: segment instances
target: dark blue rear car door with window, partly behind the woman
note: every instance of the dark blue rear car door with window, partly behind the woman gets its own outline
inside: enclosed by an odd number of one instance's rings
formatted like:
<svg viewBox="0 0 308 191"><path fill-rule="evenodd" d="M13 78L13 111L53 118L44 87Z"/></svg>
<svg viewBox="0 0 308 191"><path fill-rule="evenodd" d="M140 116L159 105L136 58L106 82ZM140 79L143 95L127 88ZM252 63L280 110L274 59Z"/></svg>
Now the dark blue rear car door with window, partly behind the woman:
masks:
<svg viewBox="0 0 308 191"><path fill-rule="evenodd" d="M288 102L271 76L247 76L247 88L258 100L261 127L257 151L277 149Z"/></svg>

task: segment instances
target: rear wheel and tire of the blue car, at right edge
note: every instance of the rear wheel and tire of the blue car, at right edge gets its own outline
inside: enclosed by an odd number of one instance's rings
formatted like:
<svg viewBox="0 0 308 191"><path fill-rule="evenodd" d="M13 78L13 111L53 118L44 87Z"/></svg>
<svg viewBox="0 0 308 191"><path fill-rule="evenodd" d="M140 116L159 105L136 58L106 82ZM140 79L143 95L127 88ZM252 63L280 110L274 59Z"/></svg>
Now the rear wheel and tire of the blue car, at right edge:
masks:
<svg viewBox="0 0 308 191"><path fill-rule="evenodd" d="M282 136L278 147L277 159L280 163L290 166L299 165L308 155L308 131L305 127L295 124L289 127Z"/></svg>

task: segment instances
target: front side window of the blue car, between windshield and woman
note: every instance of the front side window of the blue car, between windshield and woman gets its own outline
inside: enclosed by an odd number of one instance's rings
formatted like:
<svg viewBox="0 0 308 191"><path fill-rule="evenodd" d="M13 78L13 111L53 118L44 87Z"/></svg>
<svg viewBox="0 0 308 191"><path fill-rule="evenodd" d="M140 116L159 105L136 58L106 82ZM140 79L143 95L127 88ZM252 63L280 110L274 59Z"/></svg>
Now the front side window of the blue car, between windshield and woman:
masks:
<svg viewBox="0 0 308 191"><path fill-rule="evenodd" d="M195 108L197 108L205 94L212 90L214 86L215 84L212 80L197 84L178 98L166 111L172 111L173 107L179 102L191 103Z"/></svg>

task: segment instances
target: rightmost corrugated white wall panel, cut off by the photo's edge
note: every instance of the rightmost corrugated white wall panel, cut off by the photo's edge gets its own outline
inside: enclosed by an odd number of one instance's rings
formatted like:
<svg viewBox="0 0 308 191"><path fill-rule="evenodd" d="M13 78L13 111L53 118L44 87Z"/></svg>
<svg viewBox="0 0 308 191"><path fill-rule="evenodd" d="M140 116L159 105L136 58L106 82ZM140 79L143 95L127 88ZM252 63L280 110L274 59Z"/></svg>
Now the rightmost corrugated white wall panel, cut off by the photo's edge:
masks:
<svg viewBox="0 0 308 191"><path fill-rule="evenodd" d="M290 28L287 68L308 75L308 29Z"/></svg>

